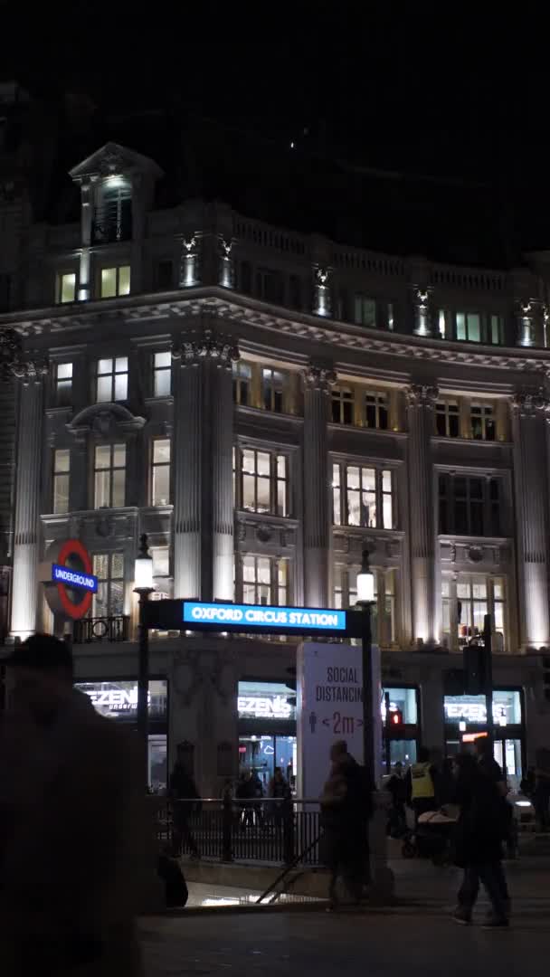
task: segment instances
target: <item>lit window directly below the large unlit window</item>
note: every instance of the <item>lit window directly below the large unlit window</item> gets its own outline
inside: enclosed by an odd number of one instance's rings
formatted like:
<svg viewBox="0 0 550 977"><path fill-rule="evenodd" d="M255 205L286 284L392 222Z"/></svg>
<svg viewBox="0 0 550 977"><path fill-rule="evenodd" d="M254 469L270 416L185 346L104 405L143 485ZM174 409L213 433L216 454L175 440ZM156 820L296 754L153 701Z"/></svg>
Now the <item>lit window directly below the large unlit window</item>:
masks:
<svg viewBox="0 0 550 977"><path fill-rule="evenodd" d="M493 622L493 651L506 650L506 586L501 576L459 573L442 579L444 643L459 651L483 634L485 616Z"/></svg>

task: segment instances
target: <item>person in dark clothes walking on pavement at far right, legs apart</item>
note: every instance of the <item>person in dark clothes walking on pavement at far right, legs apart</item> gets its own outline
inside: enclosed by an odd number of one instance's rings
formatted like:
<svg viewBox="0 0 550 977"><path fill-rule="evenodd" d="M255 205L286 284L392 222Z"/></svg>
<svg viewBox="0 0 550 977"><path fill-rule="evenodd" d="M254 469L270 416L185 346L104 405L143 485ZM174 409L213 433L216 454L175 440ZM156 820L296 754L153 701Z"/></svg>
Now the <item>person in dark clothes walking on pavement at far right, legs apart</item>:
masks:
<svg viewBox="0 0 550 977"><path fill-rule="evenodd" d="M502 840L507 825L502 797L472 754L460 754L455 765L456 801L460 813L453 838L454 861L464 870L464 877L453 918L462 924L472 921L483 882L491 904L491 913L484 925L488 929L506 928L509 907L504 895Z"/></svg>

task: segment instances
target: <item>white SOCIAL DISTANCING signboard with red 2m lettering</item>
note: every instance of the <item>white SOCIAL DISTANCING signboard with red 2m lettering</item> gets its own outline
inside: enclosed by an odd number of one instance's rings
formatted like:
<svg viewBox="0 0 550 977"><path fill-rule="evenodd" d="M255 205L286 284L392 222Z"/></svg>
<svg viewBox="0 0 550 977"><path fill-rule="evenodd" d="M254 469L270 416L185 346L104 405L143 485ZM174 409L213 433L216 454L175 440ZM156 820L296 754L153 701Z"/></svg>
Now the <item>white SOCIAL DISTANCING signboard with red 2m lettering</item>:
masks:
<svg viewBox="0 0 550 977"><path fill-rule="evenodd" d="M380 656L372 650L373 714L380 715ZM298 794L317 798L328 778L330 747L348 743L362 763L362 669L358 646L307 642L298 652ZM376 756L382 755L382 723L374 730ZM375 771L378 780L380 771Z"/></svg>

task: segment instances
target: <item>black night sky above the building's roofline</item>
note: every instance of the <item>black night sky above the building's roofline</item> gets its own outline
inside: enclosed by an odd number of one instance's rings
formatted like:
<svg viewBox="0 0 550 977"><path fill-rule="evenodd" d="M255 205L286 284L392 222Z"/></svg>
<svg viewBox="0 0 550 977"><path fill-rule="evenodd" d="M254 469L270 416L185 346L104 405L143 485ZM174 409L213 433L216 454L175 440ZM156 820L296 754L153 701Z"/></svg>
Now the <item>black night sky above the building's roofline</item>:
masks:
<svg viewBox="0 0 550 977"><path fill-rule="evenodd" d="M31 19L27 4L2 6L0 73L36 96L85 92L112 116L179 106L277 148L498 185L524 212L539 191L550 201L534 5L515 20L503 5L346 0L157 0L145 13L73 0ZM546 221L533 220L541 246Z"/></svg>

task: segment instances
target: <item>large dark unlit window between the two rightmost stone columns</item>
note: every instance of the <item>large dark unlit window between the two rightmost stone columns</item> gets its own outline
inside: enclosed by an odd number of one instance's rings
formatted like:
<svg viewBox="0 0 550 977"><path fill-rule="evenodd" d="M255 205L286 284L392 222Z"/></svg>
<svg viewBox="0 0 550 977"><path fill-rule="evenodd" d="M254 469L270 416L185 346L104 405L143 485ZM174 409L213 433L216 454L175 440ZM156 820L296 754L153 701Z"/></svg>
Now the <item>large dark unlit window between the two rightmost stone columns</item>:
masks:
<svg viewBox="0 0 550 977"><path fill-rule="evenodd" d="M500 536L501 480L442 474L439 479L440 532L463 536Z"/></svg>

